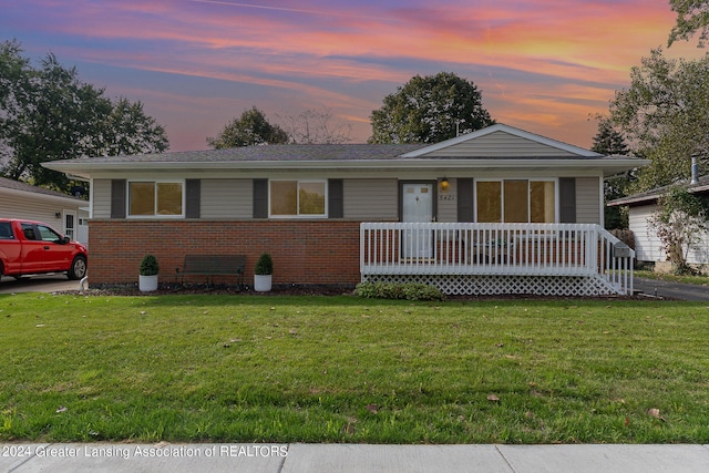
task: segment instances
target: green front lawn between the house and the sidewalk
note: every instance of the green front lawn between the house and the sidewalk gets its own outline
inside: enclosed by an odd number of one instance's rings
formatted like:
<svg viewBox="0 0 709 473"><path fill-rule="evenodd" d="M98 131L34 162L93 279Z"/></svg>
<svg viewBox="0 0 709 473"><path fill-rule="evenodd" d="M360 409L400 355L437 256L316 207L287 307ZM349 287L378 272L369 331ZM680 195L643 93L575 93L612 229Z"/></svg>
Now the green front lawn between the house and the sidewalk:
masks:
<svg viewBox="0 0 709 473"><path fill-rule="evenodd" d="M0 440L709 443L709 307L0 296Z"/></svg>

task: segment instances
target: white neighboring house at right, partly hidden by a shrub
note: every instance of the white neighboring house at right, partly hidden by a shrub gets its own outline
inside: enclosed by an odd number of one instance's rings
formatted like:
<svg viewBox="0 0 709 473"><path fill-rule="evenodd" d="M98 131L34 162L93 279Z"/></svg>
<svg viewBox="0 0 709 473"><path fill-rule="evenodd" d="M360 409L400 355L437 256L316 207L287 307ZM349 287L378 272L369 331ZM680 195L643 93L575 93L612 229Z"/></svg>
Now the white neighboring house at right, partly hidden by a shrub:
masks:
<svg viewBox="0 0 709 473"><path fill-rule="evenodd" d="M699 177L696 184L687 184L687 189L698 195L709 195L709 176ZM628 228L635 236L635 257L640 263L666 261L662 243L648 219L658 209L660 198L667 187L658 187L641 194L618 198L608 203L609 206L628 207ZM687 254L690 265L709 265L709 232L701 236L701 241L693 245Z"/></svg>

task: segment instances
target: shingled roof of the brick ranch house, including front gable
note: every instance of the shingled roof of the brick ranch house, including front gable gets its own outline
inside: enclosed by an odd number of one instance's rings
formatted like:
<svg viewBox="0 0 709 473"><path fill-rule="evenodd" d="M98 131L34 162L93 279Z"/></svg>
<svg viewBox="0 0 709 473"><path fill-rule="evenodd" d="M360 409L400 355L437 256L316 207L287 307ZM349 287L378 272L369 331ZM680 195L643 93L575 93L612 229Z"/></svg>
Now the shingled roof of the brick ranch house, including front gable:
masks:
<svg viewBox="0 0 709 473"><path fill-rule="evenodd" d="M232 176L253 176L255 172L309 173L317 169L347 171L369 176L383 171L398 173L412 168L453 173L456 169L548 171L558 169L559 166L614 175L645 164L647 162L643 160L604 156L508 125L495 124L436 144L253 145L53 161L42 165L74 178L89 179L161 172L228 172Z"/></svg>

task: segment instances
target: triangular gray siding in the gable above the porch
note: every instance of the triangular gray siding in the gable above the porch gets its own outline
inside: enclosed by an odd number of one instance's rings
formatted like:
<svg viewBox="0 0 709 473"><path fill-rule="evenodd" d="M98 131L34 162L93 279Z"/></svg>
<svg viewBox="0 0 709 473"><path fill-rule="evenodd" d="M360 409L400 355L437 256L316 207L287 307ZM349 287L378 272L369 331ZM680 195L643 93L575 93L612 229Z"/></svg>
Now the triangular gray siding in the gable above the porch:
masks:
<svg viewBox="0 0 709 473"><path fill-rule="evenodd" d="M538 157L568 156L578 157L565 150L537 143L505 132L495 132L475 140L470 140L443 150L430 153L429 156L455 157Z"/></svg>

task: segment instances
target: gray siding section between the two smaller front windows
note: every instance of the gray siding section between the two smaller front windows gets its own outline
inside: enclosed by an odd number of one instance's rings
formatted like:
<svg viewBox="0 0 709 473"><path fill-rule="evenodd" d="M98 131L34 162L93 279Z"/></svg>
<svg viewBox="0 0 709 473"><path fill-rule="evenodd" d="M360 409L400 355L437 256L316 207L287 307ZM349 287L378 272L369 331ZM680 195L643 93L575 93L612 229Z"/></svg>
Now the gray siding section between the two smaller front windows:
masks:
<svg viewBox="0 0 709 473"><path fill-rule="evenodd" d="M251 179L202 179L201 203L201 218L253 218L253 182Z"/></svg>

